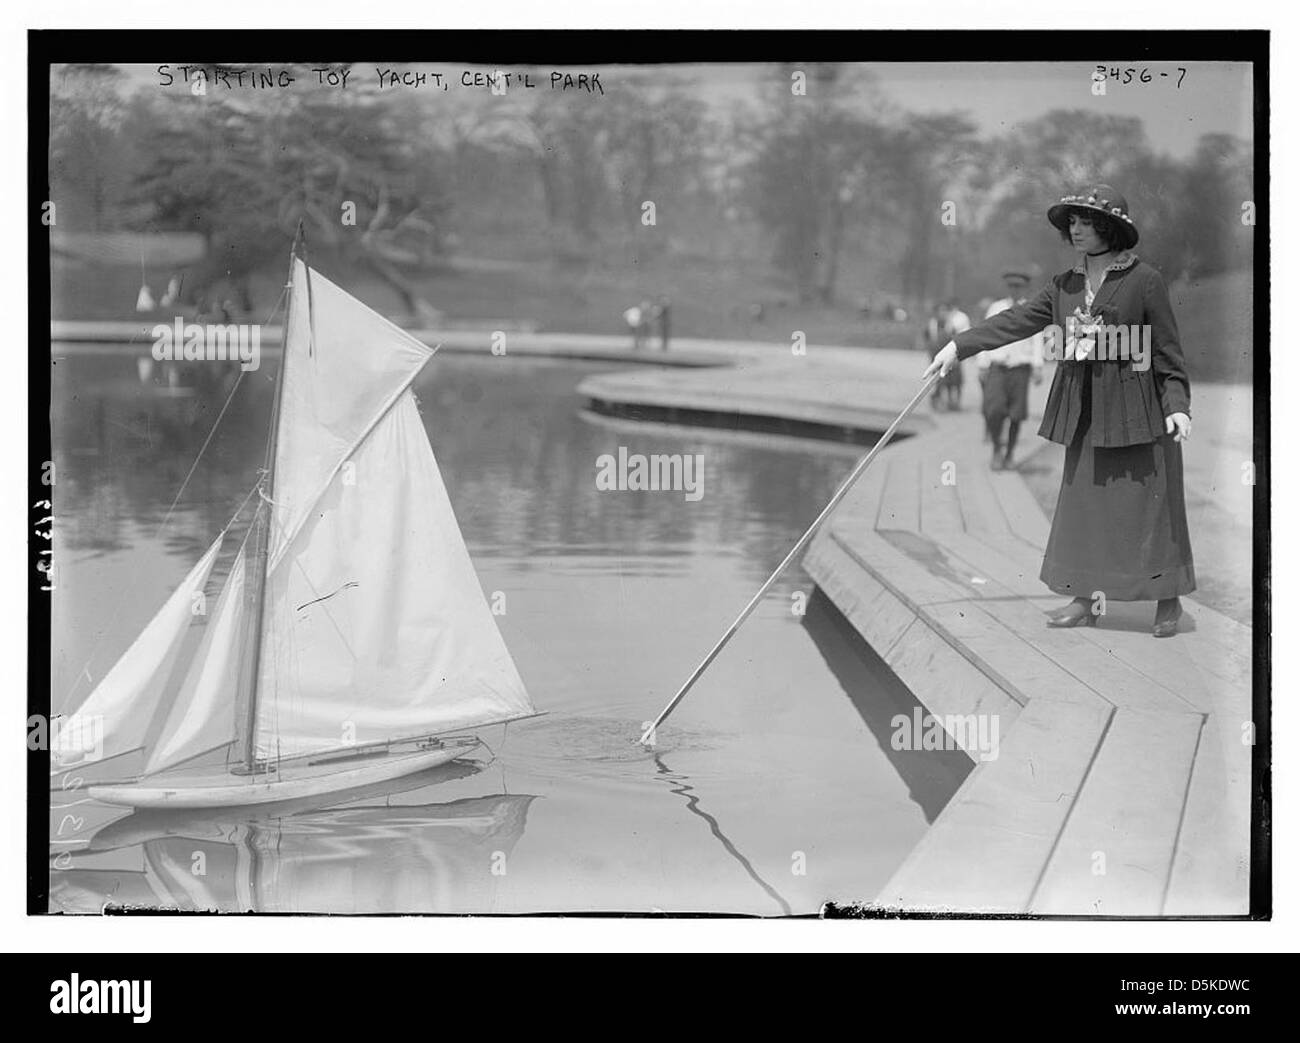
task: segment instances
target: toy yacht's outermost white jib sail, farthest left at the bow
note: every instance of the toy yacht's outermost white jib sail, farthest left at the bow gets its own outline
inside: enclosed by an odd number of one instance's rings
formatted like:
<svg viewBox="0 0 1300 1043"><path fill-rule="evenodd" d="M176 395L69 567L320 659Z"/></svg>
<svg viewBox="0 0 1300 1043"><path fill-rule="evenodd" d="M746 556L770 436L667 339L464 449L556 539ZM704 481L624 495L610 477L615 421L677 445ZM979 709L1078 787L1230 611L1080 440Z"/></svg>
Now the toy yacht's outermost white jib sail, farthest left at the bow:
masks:
<svg viewBox="0 0 1300 1043"><path fill-rule="evenodd" d="M52 750L60 762L87 754L88 736L95 739L94 754L99 758L116 757L143 744L194 618L194 596L208 581L224 536L208 548L77 713L62 722Z"/></svg>

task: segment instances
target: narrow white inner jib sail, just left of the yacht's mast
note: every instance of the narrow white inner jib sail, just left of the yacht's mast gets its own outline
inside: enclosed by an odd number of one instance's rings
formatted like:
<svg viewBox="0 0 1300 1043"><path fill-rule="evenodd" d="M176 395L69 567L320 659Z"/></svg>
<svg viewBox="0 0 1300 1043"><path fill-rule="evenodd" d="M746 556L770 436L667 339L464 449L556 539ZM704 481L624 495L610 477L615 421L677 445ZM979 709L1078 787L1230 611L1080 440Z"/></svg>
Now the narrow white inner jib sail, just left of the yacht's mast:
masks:
<svg viewBox="0 0 1300 1043"><path fill-rule="evenodd" d="M244 557L240 549L162 733L144 763L147 775L224 746L235 737L234 693L239 687L240 640L246 636Z"/></svg>

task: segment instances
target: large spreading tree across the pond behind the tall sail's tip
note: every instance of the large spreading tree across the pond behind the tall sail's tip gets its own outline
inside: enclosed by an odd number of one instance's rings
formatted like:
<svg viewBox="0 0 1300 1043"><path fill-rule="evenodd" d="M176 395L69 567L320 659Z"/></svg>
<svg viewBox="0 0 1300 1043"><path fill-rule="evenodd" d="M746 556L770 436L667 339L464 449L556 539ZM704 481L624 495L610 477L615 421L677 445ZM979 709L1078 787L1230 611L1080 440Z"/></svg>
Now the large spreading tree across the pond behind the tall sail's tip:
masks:
<svg viewBox="0 0 1300 1043"><path fill-rule="evenodd" d="M164 95L135 182L152 204L143 224L202 234L207 260L190 289L229 278L251 307L248 276L283 255L300 220L311 242L347 248L415 311L402 268L442 252L450 200L421 113L395 99L365 81L346 92Z"/></svg>

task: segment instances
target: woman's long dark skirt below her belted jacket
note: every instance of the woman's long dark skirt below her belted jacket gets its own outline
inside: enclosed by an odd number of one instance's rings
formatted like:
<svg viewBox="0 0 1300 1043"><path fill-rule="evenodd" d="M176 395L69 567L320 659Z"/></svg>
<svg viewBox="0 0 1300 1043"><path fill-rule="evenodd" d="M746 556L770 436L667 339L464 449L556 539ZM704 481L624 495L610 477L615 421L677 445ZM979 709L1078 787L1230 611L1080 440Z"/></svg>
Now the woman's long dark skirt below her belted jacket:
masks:
<svg viewBox="0 0 1300 1043"><path fill-rule="evenodd" d="M1100 449L1084 408L1065 451L1061 494L1040 579L1058 594L1158 601L1196 589L1183 502L1183 447Z"/></svg>

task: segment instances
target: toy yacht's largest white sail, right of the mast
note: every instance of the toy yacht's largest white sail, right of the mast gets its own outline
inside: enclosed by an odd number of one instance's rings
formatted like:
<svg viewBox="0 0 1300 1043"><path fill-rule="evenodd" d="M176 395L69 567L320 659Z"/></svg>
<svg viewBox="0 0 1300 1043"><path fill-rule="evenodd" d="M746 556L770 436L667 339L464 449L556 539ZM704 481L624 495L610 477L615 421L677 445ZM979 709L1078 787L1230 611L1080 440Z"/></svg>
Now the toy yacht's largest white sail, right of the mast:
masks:
<svg viewBox="0 0 1300 1043"><path fill-rule="evenodd" d="M311 341L306 278L296 264L257 756L533 713L410 390L432 350L315 272Z"/></svg>

